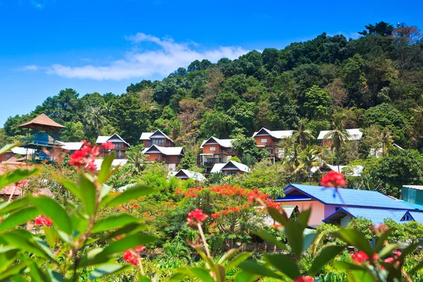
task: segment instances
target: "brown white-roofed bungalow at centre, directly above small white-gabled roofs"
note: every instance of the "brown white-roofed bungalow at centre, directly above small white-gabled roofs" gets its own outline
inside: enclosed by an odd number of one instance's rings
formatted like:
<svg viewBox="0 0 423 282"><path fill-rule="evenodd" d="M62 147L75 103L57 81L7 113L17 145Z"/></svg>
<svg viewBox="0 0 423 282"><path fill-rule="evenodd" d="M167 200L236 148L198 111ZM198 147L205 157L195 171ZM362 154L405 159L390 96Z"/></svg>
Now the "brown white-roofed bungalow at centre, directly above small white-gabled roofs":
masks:
<svg viewBox="0 0 423 282"><path fill-rule="evenodd" d="M215 164L226 164L231 157L236 155L232 149L233 139L219 139L209 137L204 140L200 149L202 149L202 164L206 167L206 174L209 174Z"/></svg>

